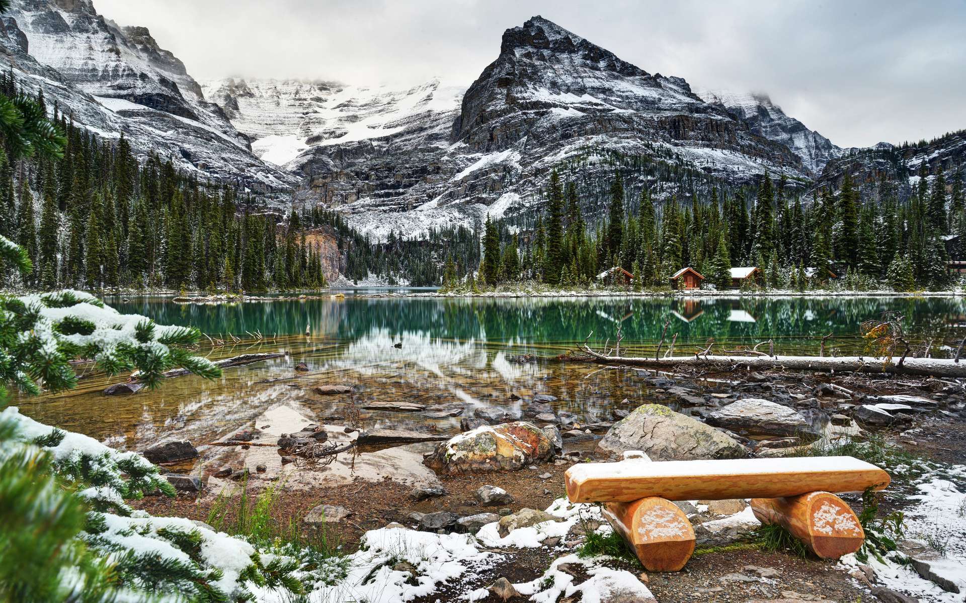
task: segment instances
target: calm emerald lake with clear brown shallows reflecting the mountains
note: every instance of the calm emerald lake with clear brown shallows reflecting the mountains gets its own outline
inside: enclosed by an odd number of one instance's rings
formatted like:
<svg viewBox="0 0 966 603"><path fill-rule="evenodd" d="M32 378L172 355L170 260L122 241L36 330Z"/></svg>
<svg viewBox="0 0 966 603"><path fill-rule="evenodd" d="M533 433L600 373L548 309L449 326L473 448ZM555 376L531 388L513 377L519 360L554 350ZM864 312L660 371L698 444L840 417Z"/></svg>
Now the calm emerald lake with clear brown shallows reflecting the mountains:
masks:
<svg viewBox="0 0 966 603"><path fill-rule="evenodd" d="M361 291L358 291L361 292ZM690 353L715 339L714 350L772 339L781 353L817 353L823 335L837 355L863 353L863 320L885 310L908 316L907 332L933 340L933 355L946 356L944 342L962 337L966 304L956 298L364 298L223 305L176 304L170 298L105 298L124 313L147 315L162 324L191 325L215 339L240 343L198 353L212 359L253 351L289 356L224 370L216 381L172 378L156 392L105 397L104 387L123 380L93 375L72 392L11 403L43 423L86 433L112 446L143 450L161 440L186 438L196 445L249 424L272 404L286 402L319 419L345 417L350 404L410 401L427 405L469 402L521 408L511 394L549 393L557 411L583 422L606 419L623 398L652 399L635 370L559 362L588 333L597 347L616 339L626 355L653 354L665 320L675 350ZM310 337L304 336L309 325ZM248 334L261 334L253 340ZM220 335L219 335L220 334ZM402 342L401 348L394 343ZM666 343L667 345L667 343ZM829 353L829 352L827 352ZM517 362L532 354L531 362ZM304 362L307 373L294 366ZM264 383L270 378L281 380ZM321 397L319 384L354 384L354 396ZM633 406L632 406L633 407ZM469 415L469 410L466 415ZM427 419L418 413L363 412L368 427L435 428L459 431L461 417ZM339 420L333 419L335 423Z"/></svg>

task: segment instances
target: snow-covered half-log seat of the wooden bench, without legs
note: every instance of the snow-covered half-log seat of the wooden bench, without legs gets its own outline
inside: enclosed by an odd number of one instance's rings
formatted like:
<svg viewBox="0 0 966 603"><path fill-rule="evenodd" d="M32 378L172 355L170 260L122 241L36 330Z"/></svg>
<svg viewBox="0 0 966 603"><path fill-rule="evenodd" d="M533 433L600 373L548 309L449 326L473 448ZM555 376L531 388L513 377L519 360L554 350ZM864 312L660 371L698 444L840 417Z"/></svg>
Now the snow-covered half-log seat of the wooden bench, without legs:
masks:
<svg viewBox="0 0 966 603"><path fill-rule="evenodd" d="M863 492L882 490L890 477L852 456L802 456L582 463L564 481L572 503L631 503L652 496L694 501Z"/></svg>

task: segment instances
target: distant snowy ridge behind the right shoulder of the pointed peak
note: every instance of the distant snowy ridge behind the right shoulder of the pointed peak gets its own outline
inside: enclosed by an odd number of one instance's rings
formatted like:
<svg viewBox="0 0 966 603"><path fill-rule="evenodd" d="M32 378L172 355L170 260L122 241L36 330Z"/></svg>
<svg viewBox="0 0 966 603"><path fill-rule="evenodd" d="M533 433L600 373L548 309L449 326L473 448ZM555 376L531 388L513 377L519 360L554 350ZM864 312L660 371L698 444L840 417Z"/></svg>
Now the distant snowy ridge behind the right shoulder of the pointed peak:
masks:
<svg viewBox="0 0 966 603"><path fill-rule="evenodd" d="M748 123L755 134L788 147L802 159L802 165L808 168L812 178L822 173L830 159L849 151L838 148L804 123L785 115L768 95L699 90L697 96L724 107L725 111Z"/></svg>

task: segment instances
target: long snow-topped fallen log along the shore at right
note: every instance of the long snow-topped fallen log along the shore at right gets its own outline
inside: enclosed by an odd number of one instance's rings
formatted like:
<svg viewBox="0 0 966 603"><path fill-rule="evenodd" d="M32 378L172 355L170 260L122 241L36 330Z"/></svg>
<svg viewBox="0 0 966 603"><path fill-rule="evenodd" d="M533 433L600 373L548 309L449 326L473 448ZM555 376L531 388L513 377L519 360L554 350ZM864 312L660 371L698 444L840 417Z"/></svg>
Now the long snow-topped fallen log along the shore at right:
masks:
<svg viewBox="0 0 966 603"><path fill-rule="evenodd" d="M862 356L838 356L835 358L815 356L677 356L674 358L639 358L625 356L606 356L599 354L589 346L584 345L583 351L597 362L631 365L636 367L654 367L656 369L673 369L676 367L704 367L714 366L735 367L749 370L819 370L822 372L890 372L896 374L917 374L934 377L966 377L966 365L954 363L952 359L940 358L905 358L899 365L899 357L892 362L883 362L878 358L864 358ZM761 353L761 352L759 352Z"/></svg>

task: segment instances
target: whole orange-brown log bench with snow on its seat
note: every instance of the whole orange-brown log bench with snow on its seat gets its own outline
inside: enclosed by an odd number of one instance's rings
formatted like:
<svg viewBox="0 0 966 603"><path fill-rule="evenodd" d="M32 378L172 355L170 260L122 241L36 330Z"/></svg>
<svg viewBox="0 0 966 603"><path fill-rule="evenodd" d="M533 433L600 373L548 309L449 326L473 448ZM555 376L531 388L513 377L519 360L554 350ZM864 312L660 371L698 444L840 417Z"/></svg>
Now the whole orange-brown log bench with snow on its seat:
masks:
<svg viewBox="0 0 966 603"><path fill-rule="evenodd" d="M650 571L677 571L695 552L695 530L673 501L751 498L763 524L785 527L821 559L859 550L866 534L836 494L882 490L889 474L852 456L581 463L564 474L571 503L604 503L603 515Z"/></svg>

